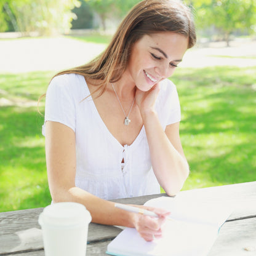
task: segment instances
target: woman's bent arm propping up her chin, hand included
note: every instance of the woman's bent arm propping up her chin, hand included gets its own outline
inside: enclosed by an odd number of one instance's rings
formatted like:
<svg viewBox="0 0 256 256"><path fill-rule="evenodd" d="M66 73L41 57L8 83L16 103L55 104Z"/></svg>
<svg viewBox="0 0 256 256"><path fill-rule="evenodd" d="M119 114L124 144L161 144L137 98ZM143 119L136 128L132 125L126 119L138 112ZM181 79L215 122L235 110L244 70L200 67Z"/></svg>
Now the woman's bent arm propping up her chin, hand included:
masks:
<svg viewBox="0 0 256 256"><path fill-rule="evenodd" d="M181 190L189 166L180 142L179 123L170 124L164 131L159 122L154 110L158 92L158 84L148 92L138 90L136 102L146 130L154 174L166 193L172 196Z"/></svg>

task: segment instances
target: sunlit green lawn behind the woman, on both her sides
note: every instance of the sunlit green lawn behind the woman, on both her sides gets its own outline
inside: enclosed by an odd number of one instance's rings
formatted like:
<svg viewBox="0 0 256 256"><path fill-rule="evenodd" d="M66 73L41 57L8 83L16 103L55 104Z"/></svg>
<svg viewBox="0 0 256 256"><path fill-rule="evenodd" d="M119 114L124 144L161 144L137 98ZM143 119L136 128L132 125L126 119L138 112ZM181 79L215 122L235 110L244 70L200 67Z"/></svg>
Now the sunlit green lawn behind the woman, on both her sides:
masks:
<svg viewBox="0 0 256 256"><path fill-rule="evenodd" d="M256 67L180 68L180 134L191 174L183 190L256 180ZM47 185L39 95L53 73L1 74L0 212L44 207ZM44 102L40 110L43 111Z"/></svg>

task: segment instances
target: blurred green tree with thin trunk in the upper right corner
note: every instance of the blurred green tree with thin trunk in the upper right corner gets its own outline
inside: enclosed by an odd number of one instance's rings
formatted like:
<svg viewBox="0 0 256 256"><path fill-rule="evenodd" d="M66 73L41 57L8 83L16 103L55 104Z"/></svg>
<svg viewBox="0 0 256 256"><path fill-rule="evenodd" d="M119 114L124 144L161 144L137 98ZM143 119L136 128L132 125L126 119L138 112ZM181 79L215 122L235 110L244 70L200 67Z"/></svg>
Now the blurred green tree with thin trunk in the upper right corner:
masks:
<svg viewBox="0 0 256 256"><path fill-rule="evenodd" d="M255 32L256 0L190 0L196 10L200 28L215 26L229 46L230 35L236 30Z"/></svg>

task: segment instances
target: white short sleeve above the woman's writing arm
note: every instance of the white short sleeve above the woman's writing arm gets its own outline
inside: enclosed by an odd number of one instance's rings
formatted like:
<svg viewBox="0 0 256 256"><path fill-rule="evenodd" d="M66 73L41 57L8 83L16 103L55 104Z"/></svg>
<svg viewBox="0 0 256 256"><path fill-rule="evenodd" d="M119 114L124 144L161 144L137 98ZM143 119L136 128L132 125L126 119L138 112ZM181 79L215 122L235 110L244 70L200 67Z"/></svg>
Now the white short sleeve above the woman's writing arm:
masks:
<svg viewBox="0 0 256 256"><path fill-rule="evenodd" d="M52 79L46 92L46 108L42 134L45 136L46 121L65 124L76 130L76 105L72 94L70 76L65 74Z"/></svg>

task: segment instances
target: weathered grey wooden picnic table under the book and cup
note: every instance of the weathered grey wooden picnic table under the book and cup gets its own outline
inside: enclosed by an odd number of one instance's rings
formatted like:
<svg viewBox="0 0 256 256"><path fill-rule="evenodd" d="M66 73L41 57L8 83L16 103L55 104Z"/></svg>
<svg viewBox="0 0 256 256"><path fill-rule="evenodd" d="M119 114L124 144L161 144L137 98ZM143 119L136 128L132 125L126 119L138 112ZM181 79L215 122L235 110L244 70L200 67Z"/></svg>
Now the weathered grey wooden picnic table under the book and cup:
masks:
<svg viewBox="0 0 256 256"><path fill-rule="evenodd" d="M201 201L222 201L234 211L224 223L208 256L256 255L256 182L214 186L180 192L185 198ZM153 194L113 200L127 204L144 204L152 198L166 196ZM0 213L0 255L44 255L38 216L43 208L15 210ZM90 223L87 256L106 255L106 247L121 229L116 226Z"/></svg>

